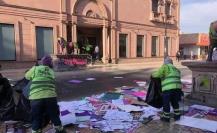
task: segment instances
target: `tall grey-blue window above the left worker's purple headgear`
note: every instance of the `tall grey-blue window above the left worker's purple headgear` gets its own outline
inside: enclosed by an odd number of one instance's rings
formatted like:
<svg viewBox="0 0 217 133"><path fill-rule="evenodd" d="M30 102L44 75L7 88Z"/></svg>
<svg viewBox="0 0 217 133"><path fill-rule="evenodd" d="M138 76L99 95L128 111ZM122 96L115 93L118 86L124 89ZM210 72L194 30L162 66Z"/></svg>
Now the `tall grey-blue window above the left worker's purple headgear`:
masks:
<svg viewBox="0 0 217 133"><path fill-rule="evenodd" d="M53 28L36 27L37 58L53 54Z"/></svg>

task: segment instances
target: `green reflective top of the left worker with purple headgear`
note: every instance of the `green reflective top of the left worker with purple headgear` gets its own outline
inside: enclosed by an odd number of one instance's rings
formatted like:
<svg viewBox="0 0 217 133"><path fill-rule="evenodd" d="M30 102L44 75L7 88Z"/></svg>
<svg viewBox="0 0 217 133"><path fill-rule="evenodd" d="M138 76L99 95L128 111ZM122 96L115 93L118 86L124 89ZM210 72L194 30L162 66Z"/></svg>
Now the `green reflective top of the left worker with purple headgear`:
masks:
<svg viewBox="0 0 217 133"><path fill-rule="evenodd" d="M56 97L54 72L48 66L34 66L25 75L32 81L29 99Z"/></svg>

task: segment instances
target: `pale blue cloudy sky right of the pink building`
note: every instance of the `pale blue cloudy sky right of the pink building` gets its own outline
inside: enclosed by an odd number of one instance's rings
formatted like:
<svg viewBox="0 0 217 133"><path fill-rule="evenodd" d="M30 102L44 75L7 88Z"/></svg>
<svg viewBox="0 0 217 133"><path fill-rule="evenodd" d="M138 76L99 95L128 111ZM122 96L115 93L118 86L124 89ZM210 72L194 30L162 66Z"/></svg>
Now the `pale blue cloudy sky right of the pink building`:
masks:
<svg viewBox="0 0 217 133"><path fill-rule="evenodd" d="M210 22L217 20L217 0L180 0L182 33L208 33Z"/></svg>

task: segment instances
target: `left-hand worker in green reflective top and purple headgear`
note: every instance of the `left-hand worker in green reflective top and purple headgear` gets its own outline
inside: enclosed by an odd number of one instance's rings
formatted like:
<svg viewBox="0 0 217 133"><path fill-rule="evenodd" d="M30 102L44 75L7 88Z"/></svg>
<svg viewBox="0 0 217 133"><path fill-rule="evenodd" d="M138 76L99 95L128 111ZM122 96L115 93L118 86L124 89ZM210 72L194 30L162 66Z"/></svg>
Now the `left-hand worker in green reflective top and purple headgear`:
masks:
<svg viewBox="0 0 217 133"><path fill-rule="evenodd" d="M41 62L42 65L32 67L25 75L26 79L32 81L29 94L32 109L32 133L42 133L42 114L44 112L54 124L56 133L65 133L59 118L52 58L45 56Z"/></svg>

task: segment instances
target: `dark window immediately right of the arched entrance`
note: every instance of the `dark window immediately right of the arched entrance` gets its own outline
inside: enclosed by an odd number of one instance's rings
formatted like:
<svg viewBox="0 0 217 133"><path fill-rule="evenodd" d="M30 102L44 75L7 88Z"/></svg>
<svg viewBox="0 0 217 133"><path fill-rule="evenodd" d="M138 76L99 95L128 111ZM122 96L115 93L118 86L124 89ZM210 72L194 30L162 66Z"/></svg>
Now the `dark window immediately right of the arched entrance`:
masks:
<svg viewBox="0 0 217 133"><path fill-rule="evenodd" d="M127 34L119 34L119 57L127 57Z"/></svg>

